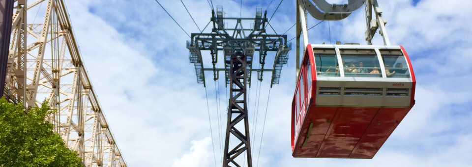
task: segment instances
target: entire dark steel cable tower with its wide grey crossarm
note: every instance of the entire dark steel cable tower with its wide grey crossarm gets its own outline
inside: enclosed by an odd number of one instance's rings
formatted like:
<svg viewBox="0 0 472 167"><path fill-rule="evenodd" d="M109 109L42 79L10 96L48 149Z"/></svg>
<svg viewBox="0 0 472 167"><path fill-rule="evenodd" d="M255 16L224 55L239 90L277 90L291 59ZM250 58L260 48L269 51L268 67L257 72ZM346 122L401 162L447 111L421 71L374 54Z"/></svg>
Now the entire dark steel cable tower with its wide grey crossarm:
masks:
<svg viewBox="0 0 472 167"><path fill-rule="evenodd" d="M237 166L235 158L245 153L248 167L252 167L251 144L249 141L247 85L251 83L251 73L258 73L258 80L262 81L263 72L272 72L271 84L278 84L282 65L287 64L288 51L287 35L268 35L266 13L257 8L255 18L225 18L223 8L217 6L216 13L212 10L211 33L192 33L191 41L187 41L190 50L190 62L195 65L197 82L205 84L205 71L213 72L213 79L218 79L218 73L225 72L226 84L229 84L230 97L228 106L228 121L226 125L226 139L223 155L223 167ZM225 22L236 22L234 28L228 28ZM244 28L242 22L253 22L249 28ZM232 35L230 35L232 34ZM201 50L209 50L213 68L203 65ZM218 51L224 53L224 69L216 68ZM261 69L253 69L254 52L259 52ZM274 64L264 69L268 51L275 51ZM244 127L244 129L237 129Z"/></svg>

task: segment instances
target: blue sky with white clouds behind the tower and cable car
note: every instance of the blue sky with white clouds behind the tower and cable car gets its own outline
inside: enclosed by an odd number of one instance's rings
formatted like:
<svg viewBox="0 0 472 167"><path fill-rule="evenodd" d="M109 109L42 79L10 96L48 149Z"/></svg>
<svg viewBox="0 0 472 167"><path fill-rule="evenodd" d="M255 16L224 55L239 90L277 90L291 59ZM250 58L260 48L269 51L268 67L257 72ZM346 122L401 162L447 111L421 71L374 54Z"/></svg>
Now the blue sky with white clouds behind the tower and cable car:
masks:
<svg viewBox="0 0 472 167"><path fill-rule="evenodd" d="M341 2L343 0L330 0ZM160 0L188 33L197 32L180 1ZM206 0L183 0L203 28L211 11ZM242 0L242 17L254 17L268 0ZM267 9L270 17L279 0ZM129 166L213 167L221 164L218 116L226 113L224 81L220 99L208 72L207 98L196 83L188 60L188 36L154 0L66 1L78 45L94 89ZM239 16L240 0L213 0L226 16ZM261 148L259 166L456 166L472 164L472 5L469 0L379 0L392 45L403 45L417 80L416 104L371 160L293 158L290 147L290 104L295 82L295 50L289 52L281 83L269 91L270 74L262 82L259 107L250 89L251 113L258 111L253 150ZM361 8L362 9L362 8ZM309 15L308 15L309 16ZM324 22L309 31L311 44L364 42L362 10L343 21ZM308 17L308 26L319 21ZM285 0L270 22L277 33L295 24L295 0ZM268 30L273 33L272 30ZM209 32L208 28L206 32ZM288 33L295 35L295 28ZM383 44L377 34L374 44ZM295 48L295 40L292 40ZM269 55L271 56L271 55ZM209 60L208 57L205 60ZM207 61L206 65L209 65ZM221 64L222 65L222 64ZM223 76L221 76L223 78ZM218 82L216 83L218 84ZM220 109L217 109L217 103ZM262 147L264 113L267 110ZM252 125L253 114L250 114ZM222 117L223 124L226 118ZM214 143L213 155L212 141ZM216 160L215 160L216 159ZM258 159L253 154L254 163Z"/></svg>

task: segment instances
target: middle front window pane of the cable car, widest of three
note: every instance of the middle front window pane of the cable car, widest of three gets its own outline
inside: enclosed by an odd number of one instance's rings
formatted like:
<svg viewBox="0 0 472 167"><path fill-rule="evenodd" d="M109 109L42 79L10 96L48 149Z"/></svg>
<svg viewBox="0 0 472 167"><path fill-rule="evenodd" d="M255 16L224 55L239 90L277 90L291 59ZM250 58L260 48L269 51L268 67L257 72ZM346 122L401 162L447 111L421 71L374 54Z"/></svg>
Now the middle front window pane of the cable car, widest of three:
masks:
<svg viewBox="0 0 472 167"><path fill-rule="evenodd" d="M379 60L374 50L342 49L344 76L382 77Z"/></svg>

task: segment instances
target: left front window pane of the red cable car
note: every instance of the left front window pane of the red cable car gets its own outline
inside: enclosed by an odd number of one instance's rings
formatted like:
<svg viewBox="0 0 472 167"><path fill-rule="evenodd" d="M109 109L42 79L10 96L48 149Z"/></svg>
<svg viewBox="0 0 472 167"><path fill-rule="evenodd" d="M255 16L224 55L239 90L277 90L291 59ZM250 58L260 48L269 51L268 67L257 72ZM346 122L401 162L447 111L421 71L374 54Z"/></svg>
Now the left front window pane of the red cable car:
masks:
<svg viewBox="0 0 472 167"><path fill-rule="evenodd" d="M334 49L313 49L317 76L341 76Z"/></svg>

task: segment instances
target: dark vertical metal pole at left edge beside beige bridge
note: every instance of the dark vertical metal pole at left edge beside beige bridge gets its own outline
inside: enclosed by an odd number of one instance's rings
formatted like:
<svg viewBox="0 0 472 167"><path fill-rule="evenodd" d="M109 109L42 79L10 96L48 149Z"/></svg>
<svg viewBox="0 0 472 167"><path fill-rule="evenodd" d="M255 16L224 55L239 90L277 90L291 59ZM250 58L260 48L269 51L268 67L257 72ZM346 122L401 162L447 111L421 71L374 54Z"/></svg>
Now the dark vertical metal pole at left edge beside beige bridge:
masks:
<svg viewBox="0 0 472 167"><path fill-rule="evenodd" d="M5 87L12 15L13 0L0 0L0 97Z"/></svg>

